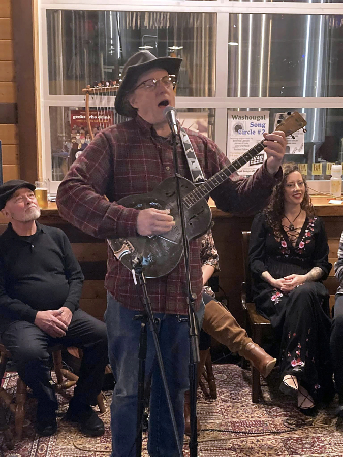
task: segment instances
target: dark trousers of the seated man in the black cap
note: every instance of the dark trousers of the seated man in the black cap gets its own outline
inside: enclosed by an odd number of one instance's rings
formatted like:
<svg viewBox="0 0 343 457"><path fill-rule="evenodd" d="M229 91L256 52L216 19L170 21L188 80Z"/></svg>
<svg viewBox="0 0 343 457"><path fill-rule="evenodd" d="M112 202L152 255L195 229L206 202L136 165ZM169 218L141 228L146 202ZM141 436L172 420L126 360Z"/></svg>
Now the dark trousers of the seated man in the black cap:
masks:
<svg viewBox="0 0 343 457"><path fill-rule="evenodd" d="M106 325L78 309L74 312L66 336L52 338L37 325L16 320L1 336L2 343L11 352L21 379L33 390L42 413L58 409L51 385L48 367L48 346L63 344L83 351L79 380L74 399L88 405L97 404L105 367L108 363Z"/></svg>

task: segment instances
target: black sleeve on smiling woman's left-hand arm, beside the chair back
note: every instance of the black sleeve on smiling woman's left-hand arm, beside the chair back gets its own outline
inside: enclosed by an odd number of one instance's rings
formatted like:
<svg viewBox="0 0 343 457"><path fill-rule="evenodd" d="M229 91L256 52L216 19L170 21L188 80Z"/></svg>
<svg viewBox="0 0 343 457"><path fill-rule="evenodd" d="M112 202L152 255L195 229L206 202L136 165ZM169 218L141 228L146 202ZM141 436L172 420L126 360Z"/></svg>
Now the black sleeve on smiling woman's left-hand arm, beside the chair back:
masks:
<svg viewBox="0 0 343 457"><path fill-rule="evenodd" d="M267 238L267 226L264 214L254 217L250 243L249 243L249 268L254 278L261 279L262 273L268 271L265 266L265 245Z"/></svg>

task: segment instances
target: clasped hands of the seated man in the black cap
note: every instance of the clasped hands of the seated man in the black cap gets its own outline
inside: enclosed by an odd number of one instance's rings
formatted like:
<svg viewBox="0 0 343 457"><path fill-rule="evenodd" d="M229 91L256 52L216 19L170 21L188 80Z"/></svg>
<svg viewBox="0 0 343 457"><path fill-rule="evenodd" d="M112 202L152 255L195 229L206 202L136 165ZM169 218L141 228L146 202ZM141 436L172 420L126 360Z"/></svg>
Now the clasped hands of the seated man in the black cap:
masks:
<svg viewBox="0 0 343 457"><path fill-rule="evenodd" d="M73 313L66 306L56 310L38 311L35 324L53 338L66 335Z"/></svg>

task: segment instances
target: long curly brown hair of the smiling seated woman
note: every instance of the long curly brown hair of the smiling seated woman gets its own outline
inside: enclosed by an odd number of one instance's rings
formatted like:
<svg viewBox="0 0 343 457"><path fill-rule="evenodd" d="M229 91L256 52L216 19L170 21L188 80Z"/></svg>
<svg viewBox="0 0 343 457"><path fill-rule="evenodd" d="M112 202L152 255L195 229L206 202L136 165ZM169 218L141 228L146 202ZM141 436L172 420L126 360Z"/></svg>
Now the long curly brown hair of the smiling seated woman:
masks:
<svg viewBox="0 0 343 457"><path fill-rule="evenodd" d="M281 221L285 215L284 187L287 182L287 177L291 173L293 173L295 171L299 171L299 168L295 164L286 164L283 167L283 170L284 170L283 179L281 182L279 182L274 187L269 205L263 211L264 214L266 215L267 224L272 228L274 234L278 237L281 235L281 227L282 227ZM302 177L302 179L304 181L305 193L304 193L304 198L300 204L300 207L301 207L301 209L306 211L307 216L312 216L312 215L314 215L314 207L313 207L313 204L311 203L311 199L310 199L308 191L307 191L307 183L306 183L304 176Z"/></svg>

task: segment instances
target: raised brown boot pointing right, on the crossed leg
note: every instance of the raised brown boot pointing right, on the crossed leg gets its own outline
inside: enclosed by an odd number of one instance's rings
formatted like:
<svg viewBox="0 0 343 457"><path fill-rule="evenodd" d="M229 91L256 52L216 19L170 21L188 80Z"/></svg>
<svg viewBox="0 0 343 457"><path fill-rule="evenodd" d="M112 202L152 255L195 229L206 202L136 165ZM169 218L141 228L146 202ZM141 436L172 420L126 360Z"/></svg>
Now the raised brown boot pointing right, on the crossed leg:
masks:
<svg viewBox="0 0 343 457"><path fill-rule="evenodd" d="M274 368L276 358L271 357L251 338L248 338L233 315L216 300L211 300L205 306L202 328L217 341L225 344L230 351L238 352L257 368L263 377L268 376Z"/></svg>

